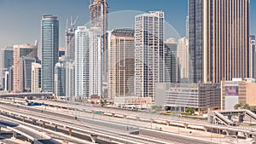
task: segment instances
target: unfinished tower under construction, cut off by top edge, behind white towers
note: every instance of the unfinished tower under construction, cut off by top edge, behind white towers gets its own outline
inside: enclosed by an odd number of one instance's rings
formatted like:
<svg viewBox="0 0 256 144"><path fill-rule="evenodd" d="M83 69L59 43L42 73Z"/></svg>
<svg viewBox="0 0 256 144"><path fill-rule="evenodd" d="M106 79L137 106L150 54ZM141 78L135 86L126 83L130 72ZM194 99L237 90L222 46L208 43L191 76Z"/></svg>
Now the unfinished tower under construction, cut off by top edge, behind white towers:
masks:
<svg viewBox="0 0 256 144"><path fill-rule="evenodd" d="M108 46L107 46L107 27L108 27L108 4L107 0L90 0L90 27L100 27L100 35L102 37L102 81L107 82L108 78Z"/></svg>

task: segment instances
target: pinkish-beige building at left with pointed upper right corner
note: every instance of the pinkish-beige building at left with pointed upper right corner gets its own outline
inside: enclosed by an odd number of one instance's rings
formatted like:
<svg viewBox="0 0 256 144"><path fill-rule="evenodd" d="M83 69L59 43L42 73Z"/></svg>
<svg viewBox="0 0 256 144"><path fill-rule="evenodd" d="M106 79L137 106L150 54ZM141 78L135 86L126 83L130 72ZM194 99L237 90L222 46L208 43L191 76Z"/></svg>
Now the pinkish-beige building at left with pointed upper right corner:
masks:
<svg viewBox="0 0 256 144"><path fill-rule="evenodd" d="M22 58L35 58L38 55L38 41L34 45L20 44L14 46L14 90L23 92L22 89Z"/></svg>

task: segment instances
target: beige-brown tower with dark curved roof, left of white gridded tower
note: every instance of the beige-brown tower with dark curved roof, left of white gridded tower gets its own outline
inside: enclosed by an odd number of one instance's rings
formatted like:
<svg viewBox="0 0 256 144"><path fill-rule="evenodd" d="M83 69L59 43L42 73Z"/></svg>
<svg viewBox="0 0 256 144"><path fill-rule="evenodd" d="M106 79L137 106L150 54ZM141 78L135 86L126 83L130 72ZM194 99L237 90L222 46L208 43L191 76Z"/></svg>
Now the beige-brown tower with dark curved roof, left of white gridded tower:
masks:
<svg viewBox="0 0 256 144"><path fill-rule="evenodd" d="M114 29L108 37L108 98L134 96L134 30Z"/></svg>

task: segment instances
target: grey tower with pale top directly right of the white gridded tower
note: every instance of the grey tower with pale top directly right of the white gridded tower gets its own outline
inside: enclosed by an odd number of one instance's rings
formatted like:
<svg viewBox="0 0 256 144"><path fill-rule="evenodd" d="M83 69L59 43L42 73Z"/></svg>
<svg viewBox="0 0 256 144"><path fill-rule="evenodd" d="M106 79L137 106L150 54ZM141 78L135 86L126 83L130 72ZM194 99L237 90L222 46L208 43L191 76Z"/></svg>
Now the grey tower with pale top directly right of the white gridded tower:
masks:
<svg viewBox="0 0 256 144"><path fill-rule="evenodd" d="M165 82L177 83L180 81L177 63L177 41L174 38L166 39L165 44Z"/></svg>

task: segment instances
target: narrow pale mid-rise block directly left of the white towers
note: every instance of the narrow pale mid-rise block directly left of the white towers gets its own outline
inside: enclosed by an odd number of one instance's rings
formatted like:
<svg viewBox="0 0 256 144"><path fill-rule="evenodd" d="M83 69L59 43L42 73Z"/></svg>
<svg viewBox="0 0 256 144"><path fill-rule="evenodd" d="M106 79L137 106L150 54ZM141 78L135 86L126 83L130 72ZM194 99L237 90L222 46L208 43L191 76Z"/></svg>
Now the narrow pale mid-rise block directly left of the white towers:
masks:
<svg viewBox="0 0 256 144"><path fill-rule="evenodd" d="M66 62L66 96L72 101L75 95L75 64L73 61Z"/></svg>

